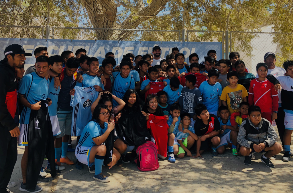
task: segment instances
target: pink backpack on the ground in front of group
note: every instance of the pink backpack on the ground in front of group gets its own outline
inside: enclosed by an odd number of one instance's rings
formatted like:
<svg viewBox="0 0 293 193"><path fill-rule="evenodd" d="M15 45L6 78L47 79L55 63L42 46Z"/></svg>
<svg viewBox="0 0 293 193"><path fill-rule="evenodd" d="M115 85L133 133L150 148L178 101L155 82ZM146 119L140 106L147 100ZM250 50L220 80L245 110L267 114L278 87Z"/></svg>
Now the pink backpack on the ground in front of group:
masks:
<svg viewBox="0 0 293 193"><path fill-rule="evenodd" d="M152 141L140 145L137 150L137 168L140 171L154 171L159 168L158 149Z"/></svg>

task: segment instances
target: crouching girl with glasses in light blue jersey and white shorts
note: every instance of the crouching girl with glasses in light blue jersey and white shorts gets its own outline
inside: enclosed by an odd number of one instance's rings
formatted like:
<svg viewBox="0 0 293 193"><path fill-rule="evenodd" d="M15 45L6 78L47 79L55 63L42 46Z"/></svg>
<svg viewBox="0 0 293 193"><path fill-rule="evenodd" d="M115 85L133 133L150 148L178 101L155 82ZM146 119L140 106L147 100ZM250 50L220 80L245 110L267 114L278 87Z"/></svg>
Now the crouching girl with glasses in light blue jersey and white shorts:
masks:
<svg viewBox="0 0 293 193"><path fill-rule="evenodd" d="M110 132L114 129L115 123L110 116L110 110L104 104L96 106L92 120L84 127L78 145L76 146L75 156L83 164L90 168L95 165L93 179L100 182L109 182L109 178L102 173L102 166L106 155L106 146L103 144ZM116 152L116 153L115 153ZM116 157L116 155L119 155ZM109 169L113 167L120 154L113 149L112 162L108 164Z"/></svg>

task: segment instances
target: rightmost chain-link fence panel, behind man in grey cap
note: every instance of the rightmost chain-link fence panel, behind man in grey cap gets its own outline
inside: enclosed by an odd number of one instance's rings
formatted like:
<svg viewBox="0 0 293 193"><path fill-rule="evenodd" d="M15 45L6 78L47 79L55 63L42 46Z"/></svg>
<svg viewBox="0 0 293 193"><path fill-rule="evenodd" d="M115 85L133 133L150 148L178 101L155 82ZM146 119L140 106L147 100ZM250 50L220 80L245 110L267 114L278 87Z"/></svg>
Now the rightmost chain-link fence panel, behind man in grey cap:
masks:
<svg viewBox="0 0 293 193"><path fill-rule="evenodd" d="M240 59L251 73L256 74L256 65L264 62L265 53L275 53L277 66L292 58L293 33L238 32L230 31L230 53L239 52Z"/></svg>

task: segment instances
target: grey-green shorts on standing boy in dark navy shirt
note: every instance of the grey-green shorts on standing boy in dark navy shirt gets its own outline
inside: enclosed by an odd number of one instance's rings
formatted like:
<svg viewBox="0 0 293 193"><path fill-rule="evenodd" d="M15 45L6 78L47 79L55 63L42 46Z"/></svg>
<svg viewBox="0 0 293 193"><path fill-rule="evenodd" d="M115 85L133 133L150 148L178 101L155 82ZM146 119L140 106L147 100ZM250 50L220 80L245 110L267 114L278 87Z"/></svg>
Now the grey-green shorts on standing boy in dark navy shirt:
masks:
<svg viewBox="0 0 293 193"><path fill-rule="evenodd" d="M56 137L60 138L60 137L63 137L64 135L71 135L72 110L64 111L58 108L57 117L58 117L61 133L57 135ZM74 136L78 136L78 135L74 135Z"/></svg>

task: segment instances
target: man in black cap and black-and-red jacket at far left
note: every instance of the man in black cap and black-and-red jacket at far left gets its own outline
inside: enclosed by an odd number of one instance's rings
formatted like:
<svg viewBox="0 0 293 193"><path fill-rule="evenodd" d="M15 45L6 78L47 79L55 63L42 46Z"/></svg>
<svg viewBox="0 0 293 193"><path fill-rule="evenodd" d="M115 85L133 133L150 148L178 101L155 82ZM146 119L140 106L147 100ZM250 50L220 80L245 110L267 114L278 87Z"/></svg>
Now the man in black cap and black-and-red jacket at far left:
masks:
<svg viewBox="0 0 293 193"><path fill-rule="evenodd" d="M15 68L25 64L23 47L12 44L4 51L4 60L0 61L0 192L8 192L6 189L17 159L17 137L20 134L18 125L13 118L16 112L17 77Z"/></svg>

